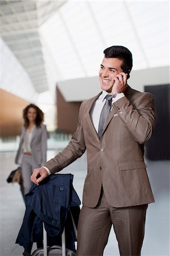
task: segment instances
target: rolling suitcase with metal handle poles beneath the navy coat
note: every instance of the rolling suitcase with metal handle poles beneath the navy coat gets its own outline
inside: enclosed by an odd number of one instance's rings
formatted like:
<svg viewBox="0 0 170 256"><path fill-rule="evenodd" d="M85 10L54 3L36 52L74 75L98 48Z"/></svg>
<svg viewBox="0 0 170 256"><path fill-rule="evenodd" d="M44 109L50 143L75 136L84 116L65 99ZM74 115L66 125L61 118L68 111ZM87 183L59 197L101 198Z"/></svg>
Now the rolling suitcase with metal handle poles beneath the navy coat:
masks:
<svg viewBox="0 0 170 256"><path fill-rule="evenodd" d="M77 228L76 228L76 224L74 223L72 214L71 214L71 217L73 222L74 233L77 238ZM43 223L43 248L36 249L31 255L32 256L76 256L76 253L74 253L74 251L71 251L65 248L65 228L63 230L63 234L61 235L61 241L62 241L62 246L53 245L53 246L47 247L47 232L44 228L44 223Z"/></svg>

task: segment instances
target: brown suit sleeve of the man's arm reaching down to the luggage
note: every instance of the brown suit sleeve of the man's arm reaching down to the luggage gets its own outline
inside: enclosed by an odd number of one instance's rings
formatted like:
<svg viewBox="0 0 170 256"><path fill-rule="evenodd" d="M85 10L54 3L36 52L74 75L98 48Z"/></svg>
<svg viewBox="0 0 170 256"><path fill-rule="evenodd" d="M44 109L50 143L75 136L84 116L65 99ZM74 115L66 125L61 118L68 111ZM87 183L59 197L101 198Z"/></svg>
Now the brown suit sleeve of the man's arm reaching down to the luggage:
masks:
<svg viewBox="0 0 170 256"><path fill-rule="evenodd" d="M82 106L82 104L81 104ZM78 115L78 125L77 130L73 134L73 137L69 144L64 148L63 151L59 152L54 158L49 160L44 164L45 167L49 169L51 174L61 171L64 167L67 167L69 164L74 162L77 158L80 158L86 150L84 133L82 128L82 113L81 106Z"/></svg>

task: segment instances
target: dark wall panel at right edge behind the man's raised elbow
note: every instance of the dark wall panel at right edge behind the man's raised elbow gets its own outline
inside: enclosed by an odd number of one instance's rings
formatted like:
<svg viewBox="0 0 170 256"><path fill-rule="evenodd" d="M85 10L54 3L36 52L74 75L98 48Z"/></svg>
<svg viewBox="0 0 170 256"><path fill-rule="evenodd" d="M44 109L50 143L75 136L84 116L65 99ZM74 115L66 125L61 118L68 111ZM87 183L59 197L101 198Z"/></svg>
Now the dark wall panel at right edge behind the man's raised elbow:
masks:
<svg viewBox="0 0 170 256"><path fill-rule="evenodd" d="M170 84L144 86L155 98L157 122L155 131L146 143L146 157L150 160L170 159Z"/></svg>

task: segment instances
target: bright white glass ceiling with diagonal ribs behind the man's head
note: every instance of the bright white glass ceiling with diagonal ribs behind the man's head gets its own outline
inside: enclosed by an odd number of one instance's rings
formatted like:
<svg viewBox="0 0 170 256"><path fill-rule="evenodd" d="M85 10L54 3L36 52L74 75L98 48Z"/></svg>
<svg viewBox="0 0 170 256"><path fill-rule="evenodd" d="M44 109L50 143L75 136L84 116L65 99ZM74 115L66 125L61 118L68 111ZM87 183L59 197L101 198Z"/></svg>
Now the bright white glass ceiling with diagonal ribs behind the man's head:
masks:
<svg viewBox="0 0 170 256"><path fill-rule="evenodd" d="M130 49L134 70L169 65L167 1L68 1L40 32L56 81L97 76L112 45Z"/></svg>

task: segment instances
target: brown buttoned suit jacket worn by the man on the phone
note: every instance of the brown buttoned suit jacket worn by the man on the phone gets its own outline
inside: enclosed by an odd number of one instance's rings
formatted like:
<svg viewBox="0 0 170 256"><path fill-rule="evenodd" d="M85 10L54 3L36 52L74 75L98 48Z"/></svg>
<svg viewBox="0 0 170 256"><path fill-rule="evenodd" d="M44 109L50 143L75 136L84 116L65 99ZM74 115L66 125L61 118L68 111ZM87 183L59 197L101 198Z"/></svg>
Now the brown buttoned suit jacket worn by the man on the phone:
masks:
<svg viewBox="0 0 170 256"><path fill-rule="evenodd" d="M155 126L154 97L128 86L126 97L114 102L99 139L90 119L90 110L99 94L82 102L71 141L44 166L52 173L59 172L86 150L88 170L82 199L85 206L96 207L101 186L113 207L152 203L154 196L143 155L144 143Z"/></svg>

